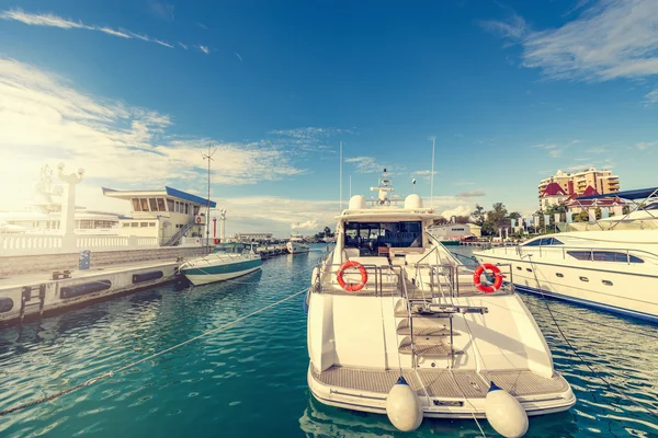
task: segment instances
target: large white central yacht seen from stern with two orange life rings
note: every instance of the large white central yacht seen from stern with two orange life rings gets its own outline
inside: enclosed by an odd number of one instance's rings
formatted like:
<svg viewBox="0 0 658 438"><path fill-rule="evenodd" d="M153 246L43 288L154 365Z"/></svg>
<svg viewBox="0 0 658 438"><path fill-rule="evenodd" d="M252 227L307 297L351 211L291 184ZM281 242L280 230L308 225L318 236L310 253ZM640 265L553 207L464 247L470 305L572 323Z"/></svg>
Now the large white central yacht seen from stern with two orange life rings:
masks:
<svg viewBox="0 0 658 438"><path fill-rule="evenodd" d="M314 396L387 413L392 422L389 391L400 381L416 395L420 420L484 417L491 382L527 415L572 406L532 314L511 287L498 289L501 273L494 286L480 284L427 232L438 215L420 196L392 205L386 174L373 189L370 208L363 196L350 199L337 218L333 252L313 273L306 303Z"/></svg>

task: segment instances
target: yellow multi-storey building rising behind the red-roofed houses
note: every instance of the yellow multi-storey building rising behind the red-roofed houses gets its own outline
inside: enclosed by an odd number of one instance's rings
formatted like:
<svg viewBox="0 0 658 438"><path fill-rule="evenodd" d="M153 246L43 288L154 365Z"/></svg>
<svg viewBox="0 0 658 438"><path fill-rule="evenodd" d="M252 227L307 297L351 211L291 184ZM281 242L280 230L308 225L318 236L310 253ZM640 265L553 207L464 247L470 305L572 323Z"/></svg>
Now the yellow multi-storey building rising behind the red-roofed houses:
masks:
<svg viewBox="0 0 658 438"><path fill-rule="evenodd" d="M592 187L600 195L620 191L620 177L613 175L612 171L598 171L594 168L574 173L557 171L555 175L540 182L537 187L540 200L545 197L546 188L553 183L559 185L565 194L570 197L583 195L588 187Z"/></svg>

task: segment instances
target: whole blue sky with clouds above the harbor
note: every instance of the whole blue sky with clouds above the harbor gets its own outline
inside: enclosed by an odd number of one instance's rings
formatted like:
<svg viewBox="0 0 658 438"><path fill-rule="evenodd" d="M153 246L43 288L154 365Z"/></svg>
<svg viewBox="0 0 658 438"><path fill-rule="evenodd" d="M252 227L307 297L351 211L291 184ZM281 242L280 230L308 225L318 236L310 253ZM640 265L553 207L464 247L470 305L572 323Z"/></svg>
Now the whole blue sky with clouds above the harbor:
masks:
<svg viewBox="0 0 658 438"><path fill-rule="evenodd" d="M315 233L343 141L345 203L386 168L444 216L525 215L557 170L658 185L657 116L655 0L0 0L0 210L59 162L88 208L204 195L211 143L228 234Z"/></svg>

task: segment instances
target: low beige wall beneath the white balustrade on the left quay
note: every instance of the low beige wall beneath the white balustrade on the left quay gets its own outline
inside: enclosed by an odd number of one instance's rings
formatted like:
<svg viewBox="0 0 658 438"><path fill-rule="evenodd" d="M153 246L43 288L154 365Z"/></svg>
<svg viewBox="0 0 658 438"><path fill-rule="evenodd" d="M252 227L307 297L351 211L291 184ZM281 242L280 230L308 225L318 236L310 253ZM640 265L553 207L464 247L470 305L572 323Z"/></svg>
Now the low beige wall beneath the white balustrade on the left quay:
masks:
<svg viewBox="0 0 658 438"><path fill-rule="evenodd" d="M206 247L157 247L151 250L91 252L91 267L150 261L174 261L178 257L197 257L207 253ZM79 254L39 254L0 257L0 278L23 274L78 270Z"/></svg>

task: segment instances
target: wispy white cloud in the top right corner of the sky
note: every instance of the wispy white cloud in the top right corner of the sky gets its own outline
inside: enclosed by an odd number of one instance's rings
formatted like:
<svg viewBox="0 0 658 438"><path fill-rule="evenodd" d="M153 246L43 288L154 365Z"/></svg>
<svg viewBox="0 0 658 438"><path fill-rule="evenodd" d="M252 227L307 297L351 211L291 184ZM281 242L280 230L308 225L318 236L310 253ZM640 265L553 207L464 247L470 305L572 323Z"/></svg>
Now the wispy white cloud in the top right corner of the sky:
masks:
<svg viewBox="0 0 658 438"><path fill-rule="evenodd" d="M658 1L581 2L581 14L557 28L533 31L522 18L486 28L523 47L523 66L552 79L606 81L658 73Z"/></svg>

